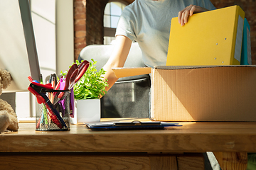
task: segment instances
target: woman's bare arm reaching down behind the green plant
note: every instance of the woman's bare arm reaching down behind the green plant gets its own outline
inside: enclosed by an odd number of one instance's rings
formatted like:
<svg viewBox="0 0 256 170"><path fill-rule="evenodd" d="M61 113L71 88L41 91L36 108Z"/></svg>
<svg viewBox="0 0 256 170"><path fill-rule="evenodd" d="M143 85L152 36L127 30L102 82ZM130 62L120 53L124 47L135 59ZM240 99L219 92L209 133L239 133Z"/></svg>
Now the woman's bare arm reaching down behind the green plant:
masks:
<svg viewBox="0 0 256 170"><path fill-rule="evenodd" d="M116 36L114 49L110 55L110 59L103 67L103 69L106 71L104 79L107 79L107 83L109 84L109 86L106 87L106 91L108 91L118 79L115 77L112 67L124 67L124 63L127 60L131 45L132 40L129 38L125 37L124 35Z"/></svg>

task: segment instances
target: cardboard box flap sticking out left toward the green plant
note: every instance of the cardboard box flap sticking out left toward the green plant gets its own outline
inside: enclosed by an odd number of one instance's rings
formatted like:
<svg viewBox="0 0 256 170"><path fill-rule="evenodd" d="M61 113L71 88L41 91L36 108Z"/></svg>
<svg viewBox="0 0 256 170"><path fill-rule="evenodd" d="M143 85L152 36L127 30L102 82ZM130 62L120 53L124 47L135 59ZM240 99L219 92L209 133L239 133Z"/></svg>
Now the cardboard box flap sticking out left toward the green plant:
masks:
<svg viewBox="0 0 256 170"><path fill-rule="evenodd" d="M132 68L114 67L112 68L112 70L117 78L132 77L132 76L151 73L151 67L132 67Z"/></svg>

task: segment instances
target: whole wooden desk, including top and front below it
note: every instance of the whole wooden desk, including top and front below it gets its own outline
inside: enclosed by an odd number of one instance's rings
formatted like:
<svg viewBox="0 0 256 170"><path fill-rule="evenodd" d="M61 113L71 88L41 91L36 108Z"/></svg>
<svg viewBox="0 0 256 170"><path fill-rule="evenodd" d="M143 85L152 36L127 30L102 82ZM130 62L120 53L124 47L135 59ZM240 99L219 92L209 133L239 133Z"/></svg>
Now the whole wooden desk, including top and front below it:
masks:
<svg viewBox="0 0 256 170"><path fill-rule="evenodd" d="M66 132L38 132L34 123L20 123L18 132L0 135L0 169L198 169L201 157L186 153L208 151L223 170L246 169L247 152L256 152L256 123L180 124L168 130L71 125Z"/></svg>

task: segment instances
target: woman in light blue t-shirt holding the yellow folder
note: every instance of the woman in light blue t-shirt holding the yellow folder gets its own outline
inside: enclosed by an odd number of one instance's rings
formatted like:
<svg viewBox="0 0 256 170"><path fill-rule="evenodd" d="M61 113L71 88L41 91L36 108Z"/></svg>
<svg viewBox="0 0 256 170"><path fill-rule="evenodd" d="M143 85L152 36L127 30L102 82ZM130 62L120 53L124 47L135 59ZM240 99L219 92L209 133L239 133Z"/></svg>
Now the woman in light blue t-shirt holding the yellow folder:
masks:
<svg viewBox="0 0 256 170"><path fill-rule="evenodd" d="M139 43L146 66L166 65L171 18L178 17L183 26L193 13L213 9L210 0L135 0L124 8L117 25L114 50L103 67L107 71L107 90L117 81L111 68L124 66L133 41ZM188 38L188 43L191 41Z"/></svg>

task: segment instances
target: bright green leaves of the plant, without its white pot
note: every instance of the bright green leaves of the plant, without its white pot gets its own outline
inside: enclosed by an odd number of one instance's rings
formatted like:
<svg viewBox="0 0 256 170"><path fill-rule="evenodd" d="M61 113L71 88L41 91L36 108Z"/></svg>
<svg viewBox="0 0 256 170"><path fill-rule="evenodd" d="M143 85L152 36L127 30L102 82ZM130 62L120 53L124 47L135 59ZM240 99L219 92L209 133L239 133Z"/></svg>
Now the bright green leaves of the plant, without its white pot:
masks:
<svg viewBox="0 0 256 170"><path fill-rule="evenodd" d="M107 79L102 79L102 75L104 75L106 71L104 69L97 71L96 67L94 66L97 61L93 59L91 60L92 62L90 62L87 71L73 88L74 97L77 100L95 99L107 94L107 91L105 90L106 86L108 86ZM75 62L78 65L80 64L78 60ZM61 74L65 76L66 72L61 72Z"/></svg>

